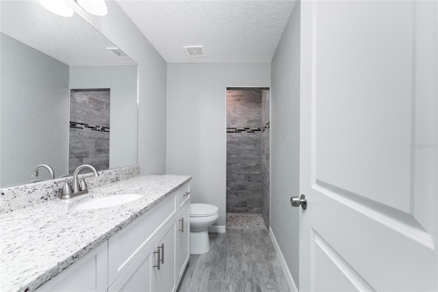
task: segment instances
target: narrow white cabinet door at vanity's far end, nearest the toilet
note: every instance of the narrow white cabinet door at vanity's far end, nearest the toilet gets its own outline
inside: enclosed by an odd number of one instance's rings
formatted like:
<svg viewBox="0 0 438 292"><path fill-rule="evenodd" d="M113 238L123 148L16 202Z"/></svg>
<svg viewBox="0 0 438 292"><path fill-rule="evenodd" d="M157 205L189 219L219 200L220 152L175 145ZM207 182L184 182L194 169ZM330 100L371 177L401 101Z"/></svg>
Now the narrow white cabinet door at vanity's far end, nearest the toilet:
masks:
<svg viewBox="0 0 438 292"><path fill-rule="evenodd" d="M186 202L178 212L177 221L177 283L183 276L185 267L190 258L189 239L190 239L190 200Z"/></svg>

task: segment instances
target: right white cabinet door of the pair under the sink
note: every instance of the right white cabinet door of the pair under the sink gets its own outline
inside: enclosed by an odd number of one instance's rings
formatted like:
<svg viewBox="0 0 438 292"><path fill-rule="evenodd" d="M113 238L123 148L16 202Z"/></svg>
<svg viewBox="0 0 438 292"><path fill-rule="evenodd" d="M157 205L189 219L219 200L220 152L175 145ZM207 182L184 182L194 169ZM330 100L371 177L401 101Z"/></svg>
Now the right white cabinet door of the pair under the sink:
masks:
<svg viewBox="0 0 438 292"><path fill-rule="evenodd" d="M162 232L159 232L155 241L156 247L160 247L159 250L162 252L162 263L160 269L153 269L155 280L153 291L170 292L177 288L175 285L175 229L177 226L175 220L170 221ZM155 254L155 260L157 260L157 254Z"/></svg>

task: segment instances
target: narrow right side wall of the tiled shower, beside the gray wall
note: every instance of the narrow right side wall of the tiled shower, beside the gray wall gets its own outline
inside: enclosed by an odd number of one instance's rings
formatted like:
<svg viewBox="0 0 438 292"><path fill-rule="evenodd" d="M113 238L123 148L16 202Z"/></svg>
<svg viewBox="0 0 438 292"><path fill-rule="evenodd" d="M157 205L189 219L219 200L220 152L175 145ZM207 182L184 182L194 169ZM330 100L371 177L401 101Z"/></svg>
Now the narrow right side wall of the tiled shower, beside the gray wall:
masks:
<svg viewBox="0 0 438 292"><path fill-rule="evenodd" d="M261 132L261 215L269 226L270 210L270 121L269 121L269 90L261 91L261 123L263 124Z"/></svg>

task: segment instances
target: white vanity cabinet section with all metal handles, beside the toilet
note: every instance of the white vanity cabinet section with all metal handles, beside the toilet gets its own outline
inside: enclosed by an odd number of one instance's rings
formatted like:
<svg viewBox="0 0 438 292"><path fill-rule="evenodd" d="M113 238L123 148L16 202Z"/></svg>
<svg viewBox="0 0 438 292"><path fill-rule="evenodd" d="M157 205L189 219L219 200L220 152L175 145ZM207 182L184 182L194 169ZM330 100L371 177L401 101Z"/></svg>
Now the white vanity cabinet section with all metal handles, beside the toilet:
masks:
<svg viewBox="0 0 438 292"><path fill-rule="evenodd" d="M185 184L109 239L108 291L177 290L190 257L189 207Z"/></svg>

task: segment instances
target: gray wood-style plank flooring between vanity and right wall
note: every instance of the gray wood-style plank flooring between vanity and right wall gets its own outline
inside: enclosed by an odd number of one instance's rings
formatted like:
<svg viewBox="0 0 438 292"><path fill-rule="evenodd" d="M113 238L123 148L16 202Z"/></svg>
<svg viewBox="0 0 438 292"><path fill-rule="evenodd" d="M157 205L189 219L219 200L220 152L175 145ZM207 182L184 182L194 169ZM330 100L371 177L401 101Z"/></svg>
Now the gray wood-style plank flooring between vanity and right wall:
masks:
<svg viewBox="0 0 438 292"><path fill-rule="evenodd" d="M207 254L191 255L179 292L290 291L268 230L210 233Z"/></svg>

